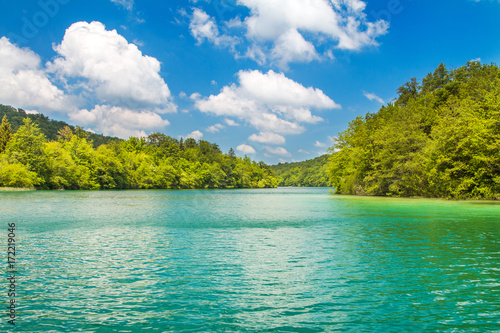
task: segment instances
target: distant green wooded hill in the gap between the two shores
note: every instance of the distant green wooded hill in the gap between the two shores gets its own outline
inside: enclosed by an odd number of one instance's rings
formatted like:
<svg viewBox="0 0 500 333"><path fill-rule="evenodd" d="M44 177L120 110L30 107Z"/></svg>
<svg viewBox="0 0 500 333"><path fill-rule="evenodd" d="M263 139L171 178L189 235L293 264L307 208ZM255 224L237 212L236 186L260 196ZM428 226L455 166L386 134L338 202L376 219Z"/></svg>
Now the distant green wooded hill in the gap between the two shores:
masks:
<svg viewBox="0 0 500 333"><path fill-rule="evenodd" d="M324 187L329 186L328 157L322 155L303 162L279 163L271 168L278 176L278 186Z"/></svg>

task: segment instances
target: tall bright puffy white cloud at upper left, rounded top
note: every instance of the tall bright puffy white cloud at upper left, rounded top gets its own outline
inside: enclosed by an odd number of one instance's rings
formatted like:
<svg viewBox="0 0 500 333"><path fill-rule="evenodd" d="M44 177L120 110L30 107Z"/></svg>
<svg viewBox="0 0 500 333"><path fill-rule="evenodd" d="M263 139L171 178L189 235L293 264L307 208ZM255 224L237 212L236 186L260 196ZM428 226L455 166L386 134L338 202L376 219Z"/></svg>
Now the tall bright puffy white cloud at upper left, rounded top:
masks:
<svg viewBox="0 0 500 333"><path fill-rule="evenodd" d="M50 69L64 79L79 80L79 86L95 93L101 103L176 110L159 74L160 62L100 22L72 24L54 50L60 57L49 64Z"/></svg>

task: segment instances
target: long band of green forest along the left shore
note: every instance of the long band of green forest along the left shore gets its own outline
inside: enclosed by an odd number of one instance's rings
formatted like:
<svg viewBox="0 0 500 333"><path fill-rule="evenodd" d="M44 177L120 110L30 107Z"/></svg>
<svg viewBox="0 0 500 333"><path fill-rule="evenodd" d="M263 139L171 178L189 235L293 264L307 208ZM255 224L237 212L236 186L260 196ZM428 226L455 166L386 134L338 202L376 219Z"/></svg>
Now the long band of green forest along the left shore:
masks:
<svg viewBox="0 0 500 333"><path fill-rule="evenodd" d="M162 133L120 140L11 107L1 110L0 187L203 189L278 184L263 162L237 157L233 149L224 154L204 140L177 140Z"/></svg>

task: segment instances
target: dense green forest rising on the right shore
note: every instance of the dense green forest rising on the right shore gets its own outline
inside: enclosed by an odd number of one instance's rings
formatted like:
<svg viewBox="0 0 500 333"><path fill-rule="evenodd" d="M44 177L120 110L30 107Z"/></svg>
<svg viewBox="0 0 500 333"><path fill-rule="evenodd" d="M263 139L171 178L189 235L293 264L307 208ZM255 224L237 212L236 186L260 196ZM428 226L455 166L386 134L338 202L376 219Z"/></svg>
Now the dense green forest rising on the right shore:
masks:
<svg viewBox="0 0 500 333"><path fill-rule="evenodd" d="M330 148L337 193L500 198L500 69L440 64L376 113L349 123Z"/></svg>

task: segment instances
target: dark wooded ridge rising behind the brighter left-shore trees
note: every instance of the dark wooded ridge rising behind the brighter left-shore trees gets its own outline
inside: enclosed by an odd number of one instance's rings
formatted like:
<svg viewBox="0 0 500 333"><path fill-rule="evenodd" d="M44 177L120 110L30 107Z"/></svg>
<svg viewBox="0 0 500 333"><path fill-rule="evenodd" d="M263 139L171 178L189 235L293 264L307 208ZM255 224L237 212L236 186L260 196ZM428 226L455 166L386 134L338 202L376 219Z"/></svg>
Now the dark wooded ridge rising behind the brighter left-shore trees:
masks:
<svg viewBox="0 0 500 333"><path fill-rule="evenodd" d="M73 125L65 123L64 121L51 120L49 119L49 117L44 116L43 114L28 114L23 109L16 109L12 106L0 104L0 120L4 115L7 115L7 119L9 120L9 123L12 127L12 132L17 132L19 126L23 124L24 118L30 118L33 123L37 124L38 127L40 127L41 132L49 141L56 141L57 132L64 126L69 126L73 132L77 128L83 131L83 128L79 126L75 127ZM86 137L88 138L88 140L92 140L94 147L99 147L100 145L109 143L110 141L121 141L121 139L111 136L104 136L102 134L95 134L88 131L84 132L86 133Z"/></svg>

